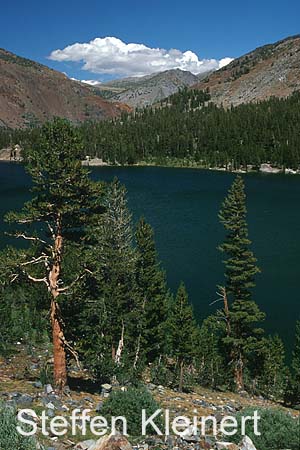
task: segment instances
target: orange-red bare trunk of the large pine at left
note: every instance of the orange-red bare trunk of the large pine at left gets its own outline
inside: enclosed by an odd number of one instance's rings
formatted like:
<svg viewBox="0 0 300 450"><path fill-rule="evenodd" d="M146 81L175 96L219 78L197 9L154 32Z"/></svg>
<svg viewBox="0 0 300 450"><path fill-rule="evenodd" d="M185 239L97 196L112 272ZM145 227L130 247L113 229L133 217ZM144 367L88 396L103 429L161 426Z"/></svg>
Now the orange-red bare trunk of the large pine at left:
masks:
<svg viewBox="0 0 300 450"><path fill-rule="evenodd" d="M53 341L54 359L54 383L60 391L67 384L67 361L63 323L60 314L60 307L57 302L59 296L59 277L61 273L61 258L63 249L63 239L61 235L61 218L57 219L57 234L54 241L53 265L49 273L49 289L51 298L51 327Z"/></svg>

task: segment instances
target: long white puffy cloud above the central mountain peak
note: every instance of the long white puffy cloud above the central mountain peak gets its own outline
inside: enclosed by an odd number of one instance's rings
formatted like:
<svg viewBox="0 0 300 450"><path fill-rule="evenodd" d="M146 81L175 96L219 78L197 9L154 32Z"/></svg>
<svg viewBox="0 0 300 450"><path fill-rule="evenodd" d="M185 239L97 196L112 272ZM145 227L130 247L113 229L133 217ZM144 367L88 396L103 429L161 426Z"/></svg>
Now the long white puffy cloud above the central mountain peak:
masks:
<svg viewBox="0 0 300 450"><path fill-rule="evenodd" d="M116 37L96 38L87 43L68 45L54 50L54 61L83 63L82 69L97 74L143 76L169 69L188 70L198 74L216 70L232 58L199 59L192 51L150 48L144 44L126 44Z"/></svg>

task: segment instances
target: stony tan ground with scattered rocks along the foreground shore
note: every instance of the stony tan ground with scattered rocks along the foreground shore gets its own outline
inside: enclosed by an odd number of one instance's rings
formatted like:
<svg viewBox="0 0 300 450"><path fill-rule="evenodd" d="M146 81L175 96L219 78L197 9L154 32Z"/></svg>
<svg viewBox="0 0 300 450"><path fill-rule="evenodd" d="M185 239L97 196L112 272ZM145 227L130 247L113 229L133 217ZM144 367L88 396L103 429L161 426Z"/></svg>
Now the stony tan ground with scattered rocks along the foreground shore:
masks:
<svg viewBox="0 0 300 450"><path fill-rule="evenodd" d="M85 371L73 367L70 371L70 388L63 396L54 392L51 384L46 382L41 373L47 373L47 367L51 364L49 349L31 349L28 354L21 343L18 344L18 352L14 356L0 358L0 401L17 409L29 408L36 411L40 417L42 411L49 418L57 415L68 417L70 412L76 408L80 410L90 409L91 415L101 415L101 409L106 398L113 389L122 389L121 386L98 385L88 378ZM147 388L152 392L155 399L163 409L169 409L171 416L184 415L192 417L195 415L216 417L219 423L226 415L235 415L245 407L255 406L260 408L279 408L263 398L250 397L247 394L240 396L230 392L213 392L201 387L191 393L178 393L164 386L156 386L148 383ZM123 387L124 389L124 387ZM280 407L287 413L296 416L293 410ZM51 434L42 438L41 442L46 450L154 450L154 449L229 449L229 450L255 450L251 441L247 438L239 447L235 444L218 441L210 437L194 436L187 433L184 437L163 438L154 436L149 438L135 439L131 444L122 436L105 436L95 440L93 435L82 437L79 433L75 438L65 435L57 438ZM13 450L13 449L12 449ZM259 450L259 449L258 449Z"/></svg>

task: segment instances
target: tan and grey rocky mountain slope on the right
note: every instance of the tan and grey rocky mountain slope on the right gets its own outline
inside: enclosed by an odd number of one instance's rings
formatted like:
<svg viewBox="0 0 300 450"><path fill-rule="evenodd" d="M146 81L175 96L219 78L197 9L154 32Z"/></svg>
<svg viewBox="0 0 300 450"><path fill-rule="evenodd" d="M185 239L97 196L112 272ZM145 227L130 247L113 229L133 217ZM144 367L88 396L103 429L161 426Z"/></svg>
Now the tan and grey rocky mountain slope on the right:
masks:
<svg viewBox="0 0 300 450"><path fill-rule="evenodd" d="M286 97L300 90L300 35L264 45L194 86L224 106Z"/></svg>

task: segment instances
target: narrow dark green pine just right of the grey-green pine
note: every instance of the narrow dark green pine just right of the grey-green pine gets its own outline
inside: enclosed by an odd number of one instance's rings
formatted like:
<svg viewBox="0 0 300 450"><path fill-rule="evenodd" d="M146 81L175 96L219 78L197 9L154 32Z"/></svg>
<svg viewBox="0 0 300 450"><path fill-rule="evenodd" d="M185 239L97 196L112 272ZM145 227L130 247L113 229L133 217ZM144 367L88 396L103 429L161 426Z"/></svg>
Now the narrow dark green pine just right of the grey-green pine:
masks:
<svg viewBox="0 0 300 450"><path fill-rule="evenodd" d="M140 219L136 230L137 283L144 305L144 351L153 362L165 351L169 294L158 262L152 227Z"/></svg>

